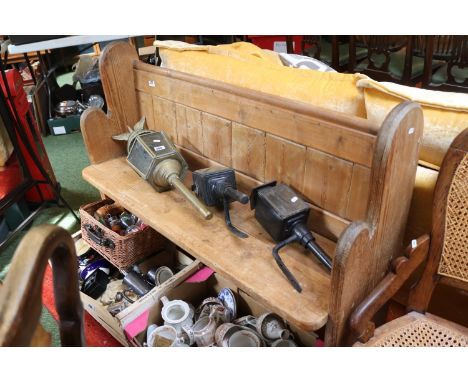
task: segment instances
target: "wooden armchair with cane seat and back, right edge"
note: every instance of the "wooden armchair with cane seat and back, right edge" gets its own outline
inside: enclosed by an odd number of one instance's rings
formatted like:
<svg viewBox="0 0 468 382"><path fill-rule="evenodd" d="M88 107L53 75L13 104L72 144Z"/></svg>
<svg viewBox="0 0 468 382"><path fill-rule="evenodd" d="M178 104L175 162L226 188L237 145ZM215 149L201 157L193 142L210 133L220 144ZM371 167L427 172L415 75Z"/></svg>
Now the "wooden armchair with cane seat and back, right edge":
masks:
<svg viewBox="0 0 468 382"><path fill-rule="evenodd" d="M393 262L393 270L358 306L350 319L356 345L468 346L468 328L426 313L438 282L468 291L468 129L453 141L442 163L434 194L431 236L424 235ZM427 256L428 255L428 256ZM427 257L410 290L408 314L374 332L373 316Z"/></svg>

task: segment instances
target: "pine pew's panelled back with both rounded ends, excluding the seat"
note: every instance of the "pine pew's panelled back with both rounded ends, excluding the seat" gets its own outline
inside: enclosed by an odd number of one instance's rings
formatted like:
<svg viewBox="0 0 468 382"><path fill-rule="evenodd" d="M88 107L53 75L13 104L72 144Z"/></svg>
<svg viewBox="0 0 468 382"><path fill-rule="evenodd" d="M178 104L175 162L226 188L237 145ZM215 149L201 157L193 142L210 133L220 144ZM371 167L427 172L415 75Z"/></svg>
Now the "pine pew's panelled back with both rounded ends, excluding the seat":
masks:
<svg viewBox="0 0 468 382"><path fill-rule="evenodd" d="M108 113L88 110L81 122L92 163L125 155L125 146L111 137L144 115L150 129L165 131L177 144L191 170L229 166L246 192L277 180L312 204L310 228L337 242L327 344L344 343L353 307L401 249L422 134L420 108L399 105L378 128L144 64L125 43L106 48L100 70Z"/></svg>

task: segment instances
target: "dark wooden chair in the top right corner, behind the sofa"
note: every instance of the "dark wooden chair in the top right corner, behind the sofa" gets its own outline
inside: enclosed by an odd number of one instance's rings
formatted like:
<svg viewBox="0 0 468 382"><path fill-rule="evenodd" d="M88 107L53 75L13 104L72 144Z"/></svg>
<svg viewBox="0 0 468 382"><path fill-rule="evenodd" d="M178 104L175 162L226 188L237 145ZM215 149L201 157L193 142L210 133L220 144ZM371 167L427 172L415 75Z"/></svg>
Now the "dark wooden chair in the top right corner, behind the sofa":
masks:
<svg viewBox="0 0 468 382"><path fill-rule="evenodd" d="M423 87L468 91L468 36L425 36L417 40L424 57ZM434 72L434 62L441 65Z"/></svg>

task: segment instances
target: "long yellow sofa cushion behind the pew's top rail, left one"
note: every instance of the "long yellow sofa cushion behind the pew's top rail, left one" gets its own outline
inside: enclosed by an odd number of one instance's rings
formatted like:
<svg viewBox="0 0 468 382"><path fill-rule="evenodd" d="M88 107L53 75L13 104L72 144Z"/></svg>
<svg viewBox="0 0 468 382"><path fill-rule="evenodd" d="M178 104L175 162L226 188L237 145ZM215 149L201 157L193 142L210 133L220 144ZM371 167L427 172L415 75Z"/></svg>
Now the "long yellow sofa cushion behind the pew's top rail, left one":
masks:
<svg viewBox="0 0 468 382"><path fill-rule="evenodd" d="M283 66L276 53L245 43L200 47L156 41L164 67L365 118L362 74Z"/></svg>

